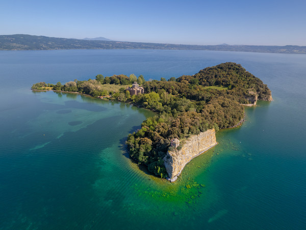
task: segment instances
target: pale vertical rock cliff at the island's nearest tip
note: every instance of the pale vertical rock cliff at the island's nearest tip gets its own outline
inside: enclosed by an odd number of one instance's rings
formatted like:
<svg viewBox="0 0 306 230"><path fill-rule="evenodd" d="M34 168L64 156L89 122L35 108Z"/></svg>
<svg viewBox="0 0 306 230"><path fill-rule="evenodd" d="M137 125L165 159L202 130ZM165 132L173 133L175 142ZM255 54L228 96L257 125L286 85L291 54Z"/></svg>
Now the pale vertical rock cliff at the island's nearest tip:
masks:
<svg viewBox="0 0 306 230"><path fill-rule="evenodd" d="M192 158L215 146L217 144L215 134L215 129L209 129L206 132L189 137L181 150L168 151L163 159L169 176L168 179L175 181Z"/></svg>

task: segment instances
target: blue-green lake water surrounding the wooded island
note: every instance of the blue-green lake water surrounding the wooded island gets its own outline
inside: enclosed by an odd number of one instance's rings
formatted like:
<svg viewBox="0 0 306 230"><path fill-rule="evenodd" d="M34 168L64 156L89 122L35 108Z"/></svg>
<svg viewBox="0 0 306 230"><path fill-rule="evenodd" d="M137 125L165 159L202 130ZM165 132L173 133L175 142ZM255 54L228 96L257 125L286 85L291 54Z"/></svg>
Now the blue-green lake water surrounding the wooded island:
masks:
<svg viewBox="0 0 306 230"><path fill-rule="evenodd" d="M152 112L33 83L192 75L237 62L272 90L175 183L124 150ZM0 52L0 229L305 229L306 55L213 51Z"/></svg>

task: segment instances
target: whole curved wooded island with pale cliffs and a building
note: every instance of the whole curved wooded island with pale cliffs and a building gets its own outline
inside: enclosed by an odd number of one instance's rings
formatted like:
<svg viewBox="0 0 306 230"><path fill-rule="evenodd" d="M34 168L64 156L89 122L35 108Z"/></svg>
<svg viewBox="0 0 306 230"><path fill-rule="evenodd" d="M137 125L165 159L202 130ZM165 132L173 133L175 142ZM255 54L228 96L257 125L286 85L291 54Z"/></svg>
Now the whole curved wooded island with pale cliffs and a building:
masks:
<svg viewBox="0 0 306 230"><path fill-rule="evenodd" d="M32 89L81 93L155 111L156 116L127 136L126 147L137 164L170 181L176 180L192 158L217 144L219 129L242 124L244 105L272 100L268 86L234 62L169 80L97 75L93 80L64 85L39 82Z"/></svg>

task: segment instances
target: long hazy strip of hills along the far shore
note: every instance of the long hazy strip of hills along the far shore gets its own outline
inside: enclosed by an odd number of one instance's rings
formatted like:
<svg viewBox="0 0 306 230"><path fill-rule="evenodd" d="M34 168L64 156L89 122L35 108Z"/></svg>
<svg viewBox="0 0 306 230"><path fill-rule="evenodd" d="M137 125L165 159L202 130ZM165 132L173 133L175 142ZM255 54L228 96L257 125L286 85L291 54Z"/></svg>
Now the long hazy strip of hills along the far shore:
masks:
<svg viewBox="0 0 306 230"><path fill-rule="evenodd" d="M306 53L298 45L186 45L127 41L101 41L56 38L26 34L0 35L0 50L68 50L68 49L151 49L151 50L212 50L261 53Z"/></svg>

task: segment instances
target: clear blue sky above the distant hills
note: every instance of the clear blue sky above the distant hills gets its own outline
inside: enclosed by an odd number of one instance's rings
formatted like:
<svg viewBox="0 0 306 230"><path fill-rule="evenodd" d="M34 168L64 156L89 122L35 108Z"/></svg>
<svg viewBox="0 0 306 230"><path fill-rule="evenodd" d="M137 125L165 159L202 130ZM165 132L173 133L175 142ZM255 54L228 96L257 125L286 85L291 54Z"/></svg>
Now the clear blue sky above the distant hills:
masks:
<svg viewBox="0 0 306 230"><path fill-rule="evenodd" d="M306 45L305 0L7 0L0 9L0 35Z"/></svg>

